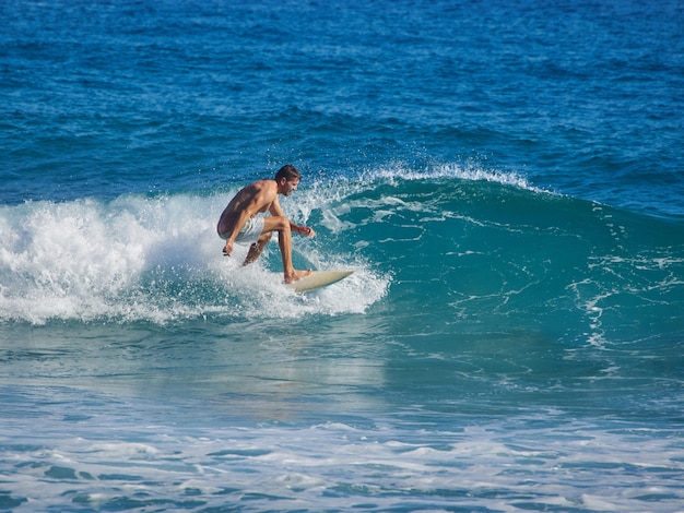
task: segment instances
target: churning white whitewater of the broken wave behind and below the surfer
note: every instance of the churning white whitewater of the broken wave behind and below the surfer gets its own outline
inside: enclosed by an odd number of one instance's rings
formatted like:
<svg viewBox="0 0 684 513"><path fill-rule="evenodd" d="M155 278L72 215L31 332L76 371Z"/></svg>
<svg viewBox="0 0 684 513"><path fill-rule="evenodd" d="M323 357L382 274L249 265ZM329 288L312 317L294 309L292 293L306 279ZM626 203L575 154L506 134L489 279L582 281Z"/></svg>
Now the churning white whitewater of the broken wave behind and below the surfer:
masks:
<svg viewBox="0 0 684 513"><path fill-rule="evenodd" d="M384 296L386 277L357 258L319 249L316 239L297 239L295 256L302 265L343 266L355 275L307 296L294 296L268 269L280 269L275 242L250 267L239 265L245 251L224 258L215 222L229 195L125 195L108 203L2 207L0 319L40 324L49 319L167 322L208 314L358 313ZM240 308L226 305L226 297Z"/></svg>

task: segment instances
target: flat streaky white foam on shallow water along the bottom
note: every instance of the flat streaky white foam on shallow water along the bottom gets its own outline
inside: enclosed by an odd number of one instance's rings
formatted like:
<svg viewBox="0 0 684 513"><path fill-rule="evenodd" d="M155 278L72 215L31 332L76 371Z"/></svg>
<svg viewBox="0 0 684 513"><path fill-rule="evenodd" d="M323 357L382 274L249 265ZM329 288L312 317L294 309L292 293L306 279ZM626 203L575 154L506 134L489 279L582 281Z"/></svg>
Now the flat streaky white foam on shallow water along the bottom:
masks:
<svg viewBox="0 0 684 513"><path fill-rule="evenodd" d="M526 505L665 512L684 499L676 477L684 470L682 449L668 433L580 421L534 426L534 419L509 418L506 425L423 432L425 440L420 431L340 422L164 428L138 429L141 442L99 442L114 438L115 428L85 422L74 427L83 434L76 438L47 439L38 429L33 443L47 448L40 450L22 445L16 433L19 444L5 451L0 470L3 489L34 511L121 501L131 508L165 501L174 509L197 500L198 508L210 508L250 499L255 509L310 511L406 508L411 500L431 511ZM116 432L126 429L119 425Z"/></svg>

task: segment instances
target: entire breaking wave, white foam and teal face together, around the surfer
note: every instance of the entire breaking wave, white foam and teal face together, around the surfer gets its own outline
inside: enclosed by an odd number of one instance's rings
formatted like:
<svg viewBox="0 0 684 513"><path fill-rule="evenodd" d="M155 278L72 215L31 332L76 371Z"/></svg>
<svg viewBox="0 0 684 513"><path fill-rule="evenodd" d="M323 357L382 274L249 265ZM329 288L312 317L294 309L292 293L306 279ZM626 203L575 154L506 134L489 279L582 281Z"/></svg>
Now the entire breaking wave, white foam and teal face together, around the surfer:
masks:
<svg viewBox="0 0 684 513"><path fill-rule="evenodd" d="M221 255L215 222L240 184L113 201L0 208L0 319L185 322L303 313L426 319L462 334L519 326L605 347L682 334L684 230L667 220L563 196L522 176L394 164L320 174L283 207L315 226L295 266L352 269L314 295L281 285L278 244L258 264Z"/></svg>

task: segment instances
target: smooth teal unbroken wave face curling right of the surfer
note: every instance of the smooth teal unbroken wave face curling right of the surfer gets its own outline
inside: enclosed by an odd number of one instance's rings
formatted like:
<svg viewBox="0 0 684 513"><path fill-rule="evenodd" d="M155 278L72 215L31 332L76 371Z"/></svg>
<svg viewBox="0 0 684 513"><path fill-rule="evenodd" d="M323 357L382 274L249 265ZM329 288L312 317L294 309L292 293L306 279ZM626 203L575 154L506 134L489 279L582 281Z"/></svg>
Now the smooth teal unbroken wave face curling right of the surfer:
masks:
<svg viewBox="0 0 684 513"><path fill-rule="evenodd" d="M681 225L486 168L369 175L317 220L392 274L391 313L406 333L432 320L446 337L458 323L461 335L523 326L573 346L679 344Z"/></svg>

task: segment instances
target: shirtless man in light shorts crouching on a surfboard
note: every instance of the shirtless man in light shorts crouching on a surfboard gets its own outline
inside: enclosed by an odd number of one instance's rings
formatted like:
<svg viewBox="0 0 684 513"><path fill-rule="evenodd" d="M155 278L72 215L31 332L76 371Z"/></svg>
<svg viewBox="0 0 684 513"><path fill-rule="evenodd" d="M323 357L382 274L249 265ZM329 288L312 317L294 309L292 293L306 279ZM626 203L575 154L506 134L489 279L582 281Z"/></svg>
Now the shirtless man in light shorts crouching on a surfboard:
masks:
<svg viewBox="0 0 684 513"><path fill-rule="evenodd" d="M311 270L297 271L292 265L292 231L314 237L312 228L298 226L283 214L278 195L288 196L297 190L299 171L286 165L279 169L273 180L259 180L241 189L225 207L216 231L224 239L223 254L233 253L233 244L251 244L243 265L256 261L263 248L271 240L273 231L278 231L278 242L283 258L285 283L296 282L311 274ZM258 215L269 212L271 215Z"/></svg>

